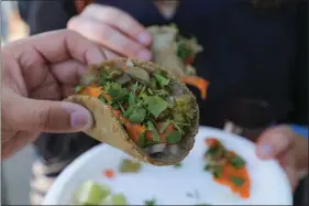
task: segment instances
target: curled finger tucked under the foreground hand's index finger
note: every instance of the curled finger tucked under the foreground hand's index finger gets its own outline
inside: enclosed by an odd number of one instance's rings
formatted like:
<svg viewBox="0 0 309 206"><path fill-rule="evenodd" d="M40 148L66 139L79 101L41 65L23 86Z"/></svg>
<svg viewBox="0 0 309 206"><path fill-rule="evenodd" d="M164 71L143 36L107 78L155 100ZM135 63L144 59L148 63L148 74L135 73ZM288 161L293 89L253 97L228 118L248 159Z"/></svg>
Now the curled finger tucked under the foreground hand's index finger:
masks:
<svg viewBox="0 0 309 206"><path fill-rule="evenodd" d="M62 84L76 85L79 78L87 72L88 66L78 61L66 61L51 66L51 72Z"/></svg>

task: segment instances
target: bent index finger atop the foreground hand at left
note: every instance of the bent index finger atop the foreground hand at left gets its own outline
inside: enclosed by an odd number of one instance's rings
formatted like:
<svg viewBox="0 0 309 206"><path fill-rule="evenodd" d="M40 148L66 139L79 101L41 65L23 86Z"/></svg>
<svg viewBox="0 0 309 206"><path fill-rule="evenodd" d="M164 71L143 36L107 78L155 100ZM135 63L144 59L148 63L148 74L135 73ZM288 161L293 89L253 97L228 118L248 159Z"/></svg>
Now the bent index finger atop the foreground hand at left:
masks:
<svg viewBox="0 0 309 206"><path fill-rule="evenodd" d="M20 44L23 46L21 47ZM33 62L38 62L40 65L37 66L41 66L42 64L59 63L70 58L84 64L104 61L100 47L78 33L68 30L46 32L16 41L5 47L5 52L13 53L23 67L33 66ZM29 54L35 56L35 58L30 59Z"/></svg>

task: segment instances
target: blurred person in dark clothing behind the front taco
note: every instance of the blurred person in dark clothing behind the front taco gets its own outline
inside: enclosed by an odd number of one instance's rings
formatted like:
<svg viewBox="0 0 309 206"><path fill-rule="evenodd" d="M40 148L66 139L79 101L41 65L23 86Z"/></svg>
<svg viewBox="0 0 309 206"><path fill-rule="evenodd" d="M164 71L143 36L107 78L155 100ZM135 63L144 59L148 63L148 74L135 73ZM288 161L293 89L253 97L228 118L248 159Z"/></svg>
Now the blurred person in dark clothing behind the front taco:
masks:
<svg viewBox="0 0 309 206"><path fill-rule="evenodd" d="M206 101L197 95L200 124L222 128L220 113L231 99L262 99L272 106L275 122L285 126L261 134L257 154L278 159L293 188L308 171L296 149L306 149L308 140L290 127L294 123L308 135L308 2L97 0L19 1L19 6L31 34L68 28L99 44L110 58L151 61L152 39L145 26L175 23L203 47L195 67L211 85ZM40 204L66 165L98 143L81 132L42 133L35 142L33 204Z"/></svg>

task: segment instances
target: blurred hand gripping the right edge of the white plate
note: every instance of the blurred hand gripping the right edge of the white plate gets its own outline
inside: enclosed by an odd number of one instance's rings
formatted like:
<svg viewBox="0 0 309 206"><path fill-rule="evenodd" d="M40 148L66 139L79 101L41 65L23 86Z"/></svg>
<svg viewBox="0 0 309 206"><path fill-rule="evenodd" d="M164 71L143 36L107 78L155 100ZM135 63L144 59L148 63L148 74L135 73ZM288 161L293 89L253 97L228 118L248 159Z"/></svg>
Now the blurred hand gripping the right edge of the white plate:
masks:
<svg viewBox="0 0 309 206"><path fill-rule="evenodd" d="M308 172L308 140L298 137L288 126L274 127L263 132L257 140L256 153L261 159L276 159L280 163L293 191Z"/></svg>

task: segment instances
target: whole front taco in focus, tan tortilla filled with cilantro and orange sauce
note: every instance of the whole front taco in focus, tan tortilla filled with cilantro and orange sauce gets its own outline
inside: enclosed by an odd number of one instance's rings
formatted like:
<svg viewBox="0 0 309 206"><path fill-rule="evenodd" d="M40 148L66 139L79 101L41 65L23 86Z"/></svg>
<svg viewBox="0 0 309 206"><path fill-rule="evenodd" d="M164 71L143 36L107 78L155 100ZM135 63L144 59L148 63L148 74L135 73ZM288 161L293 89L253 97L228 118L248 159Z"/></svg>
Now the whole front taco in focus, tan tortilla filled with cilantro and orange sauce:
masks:
<svg viewBox="0 0 309 206"><path fill-rule="evenodd" d="M66 99L88 108L90 137L154 165L183 161L194 147L199 108L185 84L165 68L117 58L89 68Z"/></svg>

